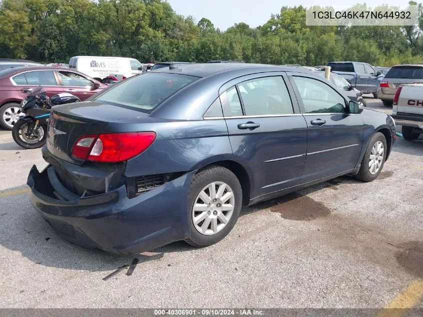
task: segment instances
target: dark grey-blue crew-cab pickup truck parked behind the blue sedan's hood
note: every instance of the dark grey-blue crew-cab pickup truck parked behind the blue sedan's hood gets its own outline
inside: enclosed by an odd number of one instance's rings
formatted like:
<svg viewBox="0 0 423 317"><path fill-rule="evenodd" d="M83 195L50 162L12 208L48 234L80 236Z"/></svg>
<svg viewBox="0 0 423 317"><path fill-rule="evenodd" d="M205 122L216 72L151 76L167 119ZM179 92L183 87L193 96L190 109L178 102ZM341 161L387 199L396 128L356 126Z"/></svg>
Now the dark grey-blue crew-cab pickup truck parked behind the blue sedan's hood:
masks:
<svg viewBox="0 0 423 317"><path fill-rule="evenodd" d="M377 78L382 74L381 71L375 71L369 64L360 62L330 62L327 66L330 66L332 72L345 78L353 88L377 98Z"/></svg>

